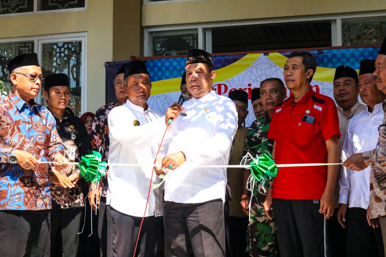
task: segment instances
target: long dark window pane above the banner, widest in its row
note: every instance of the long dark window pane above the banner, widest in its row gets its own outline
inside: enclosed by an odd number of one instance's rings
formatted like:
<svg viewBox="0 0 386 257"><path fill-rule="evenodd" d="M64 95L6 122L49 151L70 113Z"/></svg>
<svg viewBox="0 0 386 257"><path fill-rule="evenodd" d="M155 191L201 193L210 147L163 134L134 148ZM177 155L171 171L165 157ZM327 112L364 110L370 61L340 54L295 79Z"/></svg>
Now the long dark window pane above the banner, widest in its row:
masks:
<svg viewBox="0 0 386 257"><path fill-rule="evenodd" d="M212 53L331 46L331 22L287 22L212 29Z"/></svg>

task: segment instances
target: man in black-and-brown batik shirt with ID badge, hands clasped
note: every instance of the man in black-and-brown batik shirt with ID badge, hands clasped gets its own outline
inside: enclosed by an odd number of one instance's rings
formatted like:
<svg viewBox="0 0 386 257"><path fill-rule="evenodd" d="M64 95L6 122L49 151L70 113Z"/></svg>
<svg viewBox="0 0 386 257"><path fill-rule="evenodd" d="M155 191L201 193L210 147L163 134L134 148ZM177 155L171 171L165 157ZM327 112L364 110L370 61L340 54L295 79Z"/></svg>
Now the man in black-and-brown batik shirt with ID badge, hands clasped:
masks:
<svg viewBox="0 0 386 257"><path fill-rule="evenodd" d="M65 108L70 100L69 81L66 74L46 77L43 96L48 109L56 120L56 129L64 145L64 156L72 162L91 153L86 127L82 120ZM79 245L79 228L83 203L82 188L85 179L80 178L78 165L69 164L51 177L51 256L76 256Z"/></svg>

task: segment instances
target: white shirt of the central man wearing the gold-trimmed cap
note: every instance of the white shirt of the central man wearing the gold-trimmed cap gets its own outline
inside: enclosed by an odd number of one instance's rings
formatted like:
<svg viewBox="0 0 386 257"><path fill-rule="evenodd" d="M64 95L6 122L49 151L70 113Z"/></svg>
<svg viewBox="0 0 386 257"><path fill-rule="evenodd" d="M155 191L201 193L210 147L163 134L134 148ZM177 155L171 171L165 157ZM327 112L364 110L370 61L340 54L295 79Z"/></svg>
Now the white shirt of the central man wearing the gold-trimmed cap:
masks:
<svg viewBox="0 0 386 257"><path fill-rule="evenodd" d="M172 137L165 140L160 153L166 156L181 151L186 162L168 172L164 199L177 203L203 203L218 198L224 201L227 169L196 166L228 164L237 129L235 104L211 91L186 101L183 107L186 116L180 115L171 124Z"/></svg>

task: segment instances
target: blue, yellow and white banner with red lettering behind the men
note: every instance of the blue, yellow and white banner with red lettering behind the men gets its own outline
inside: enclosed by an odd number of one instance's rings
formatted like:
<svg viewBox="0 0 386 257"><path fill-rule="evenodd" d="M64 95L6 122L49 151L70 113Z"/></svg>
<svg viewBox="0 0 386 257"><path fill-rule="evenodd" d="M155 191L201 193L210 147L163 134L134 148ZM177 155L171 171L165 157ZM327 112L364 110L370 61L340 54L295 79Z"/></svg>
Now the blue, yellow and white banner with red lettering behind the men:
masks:
<svg viewBox="0 0 386 257"><path fill-rule="evenodd" d="M378 47L311 51L318 61L318 67L311 81L313 90L334 99L332 80L335 68L339 65L346 65L358 71L361 59L375 59L378 51ZM213 56L216 77L212 89L223 96L228 96L229 92L233 90L241 89L246 91L251 99L251 90L259 88L260 82L264 79L280 78L283 80L283 68L289 54L290 52L274 52ZM185 61L186 58L146 61L152 81L151 97L148 100L152 109L164 113L166 108L178 100L181 94L179 87L181 75L185 71ZM107 103L115 101L113 77L122 63L124 62L106 63ZM107 97L108 94L109 97ZM289 96L289 91L287 91L287 96ZM251 104L248 105L248 110L249 115L245 120L247 127L255 120Z"/></svg>

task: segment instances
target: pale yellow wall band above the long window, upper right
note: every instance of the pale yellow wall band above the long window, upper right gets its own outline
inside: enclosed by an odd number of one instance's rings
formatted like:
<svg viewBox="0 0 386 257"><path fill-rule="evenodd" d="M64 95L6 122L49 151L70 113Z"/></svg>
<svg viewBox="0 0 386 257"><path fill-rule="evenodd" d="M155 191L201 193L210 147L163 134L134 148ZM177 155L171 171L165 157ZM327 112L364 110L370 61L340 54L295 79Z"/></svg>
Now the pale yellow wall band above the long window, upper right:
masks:
<svg viewBox="0 0 386 257"><path fill-rule="evenodd" d="M339 14L386 9L380 0L198 0L144 5L142 25L261 19L316 14Z"/></svg>

